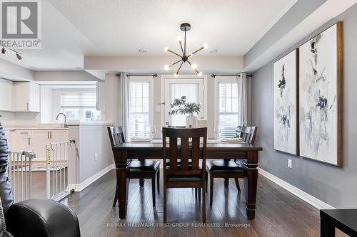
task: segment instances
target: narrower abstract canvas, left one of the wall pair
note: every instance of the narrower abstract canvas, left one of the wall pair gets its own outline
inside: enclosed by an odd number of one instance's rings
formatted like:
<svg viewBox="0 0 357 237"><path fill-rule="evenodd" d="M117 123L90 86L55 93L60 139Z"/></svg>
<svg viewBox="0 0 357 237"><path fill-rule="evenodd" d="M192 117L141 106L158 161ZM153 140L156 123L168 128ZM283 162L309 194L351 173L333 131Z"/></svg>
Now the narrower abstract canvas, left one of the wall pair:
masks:
<svg viewBox="0 0 357 237"><path fill-rule="evenodd" d="M274 149L297 154L297 50L274 63Z"/></svg>

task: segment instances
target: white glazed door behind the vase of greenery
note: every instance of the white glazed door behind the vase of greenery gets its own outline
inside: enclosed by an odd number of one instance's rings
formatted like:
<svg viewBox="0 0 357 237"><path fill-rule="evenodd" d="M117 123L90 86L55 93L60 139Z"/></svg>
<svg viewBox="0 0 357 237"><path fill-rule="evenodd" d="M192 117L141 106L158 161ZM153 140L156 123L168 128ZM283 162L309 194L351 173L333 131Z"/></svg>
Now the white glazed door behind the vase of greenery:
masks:
<svg viewBox="0 0 357 237"><path fill-rule="evenodd" d="M186 96L186 102L196 102L201 105L198 119L206 119L205 78L164 78L164 125L185 126L188 115L169 115L171 103L175 99Z"/></svg>

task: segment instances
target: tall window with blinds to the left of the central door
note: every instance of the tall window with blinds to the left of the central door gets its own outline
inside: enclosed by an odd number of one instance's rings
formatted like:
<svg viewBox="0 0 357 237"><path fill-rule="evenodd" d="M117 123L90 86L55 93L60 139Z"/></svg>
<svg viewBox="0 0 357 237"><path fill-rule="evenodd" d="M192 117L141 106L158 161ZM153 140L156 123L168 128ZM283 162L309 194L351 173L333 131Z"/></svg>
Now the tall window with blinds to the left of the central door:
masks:
<svg viewBox="0 0 357 237"><path fill-rule="evenodd" d="M149 137L151 79L129 79L129 137Z"/></svg>

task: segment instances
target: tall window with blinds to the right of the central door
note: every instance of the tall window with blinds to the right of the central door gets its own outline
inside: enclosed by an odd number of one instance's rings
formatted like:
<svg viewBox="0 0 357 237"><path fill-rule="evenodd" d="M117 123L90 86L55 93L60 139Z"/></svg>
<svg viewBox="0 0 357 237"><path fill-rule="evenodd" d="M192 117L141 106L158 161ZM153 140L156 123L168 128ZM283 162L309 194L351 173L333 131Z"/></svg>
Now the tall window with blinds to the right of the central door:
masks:
<svg viewBox="0 0 357 237"><path fill-rule="evenodd" d="M238 126L238 83L236 79L217 80L217 137L234 137Z"/></svg>

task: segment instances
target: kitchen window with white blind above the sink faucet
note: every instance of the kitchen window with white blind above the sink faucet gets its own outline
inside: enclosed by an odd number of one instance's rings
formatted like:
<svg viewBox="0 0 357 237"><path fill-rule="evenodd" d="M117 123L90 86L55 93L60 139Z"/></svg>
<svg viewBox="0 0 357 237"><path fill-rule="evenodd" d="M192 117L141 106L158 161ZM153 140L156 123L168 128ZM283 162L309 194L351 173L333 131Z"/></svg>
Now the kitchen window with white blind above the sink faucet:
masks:
<svg viewBox="0 0 357 237"><path fill-rule="evenodd" d="M95 90L62 92L61 112L66 115L67 120L101 120L101 112L96 110Z"/></svg>

